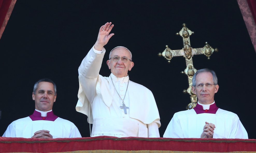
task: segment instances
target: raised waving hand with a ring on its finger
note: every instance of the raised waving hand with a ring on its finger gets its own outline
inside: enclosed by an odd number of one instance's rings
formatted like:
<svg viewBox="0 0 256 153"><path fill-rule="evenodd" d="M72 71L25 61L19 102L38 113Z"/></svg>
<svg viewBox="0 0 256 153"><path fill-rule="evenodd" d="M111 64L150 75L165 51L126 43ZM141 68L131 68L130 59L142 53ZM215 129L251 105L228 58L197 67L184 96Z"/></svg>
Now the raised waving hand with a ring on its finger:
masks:
<svg viewBox="0 0 256 153"><path fill-rule="evenodd" d="M113 33L110 34L112 28L114 27L114 25L111 24L112 22L107 22L105 25L99 28L98 38L94 45L94 48L96 50L101 51L103 46L105 46L108 43L109 39L114 35Z"/></svg>

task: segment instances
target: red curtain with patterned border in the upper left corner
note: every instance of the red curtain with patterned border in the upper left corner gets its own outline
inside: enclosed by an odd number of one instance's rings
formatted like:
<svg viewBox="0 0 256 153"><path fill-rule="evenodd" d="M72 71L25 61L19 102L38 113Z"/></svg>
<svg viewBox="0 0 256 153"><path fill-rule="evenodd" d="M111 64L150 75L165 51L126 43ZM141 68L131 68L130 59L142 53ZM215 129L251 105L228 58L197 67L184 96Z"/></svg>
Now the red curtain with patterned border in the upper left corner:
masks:
<svg viewBox="0 0 256 153"><path fill-rule="evenodd" d="M0 39L9 21L16 0L0 0Z"/></svg>

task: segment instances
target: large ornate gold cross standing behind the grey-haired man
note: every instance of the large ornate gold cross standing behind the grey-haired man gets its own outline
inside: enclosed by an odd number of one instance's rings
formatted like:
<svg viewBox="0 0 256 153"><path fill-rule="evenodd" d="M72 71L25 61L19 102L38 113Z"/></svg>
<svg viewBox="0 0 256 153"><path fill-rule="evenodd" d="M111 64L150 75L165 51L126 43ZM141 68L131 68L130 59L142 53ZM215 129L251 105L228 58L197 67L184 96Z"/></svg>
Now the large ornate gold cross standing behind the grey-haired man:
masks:
<svg viewBox="0 0 256 153"><path fill-rule="evenodd" d="M190 94L191 103L189 103L186 109L192 109L196 106L197 98L196 95L192 91L192 78L193 75L196 73L196 69L193 66L192 57L198 54L204 54L205 56L210 59L211 54L215 51L218 52L218 49L213 49L207 42L205 42L205 46L203 48L192 48L190 46L190 39L189 36L194 34L191 30L186 27L186 24L183 23L183 28L180 30L179 33L176 35L180 35L183 38L183 48L181 50L171 50L167 45L166 49L162 53L158 53L158 56L163 56L168 63L170 60L175 56L183 56L186 59L186 69L182 71L182 74L186 74L188 76L189 87L183 90L184 93Z"/></svg>

